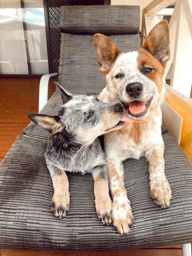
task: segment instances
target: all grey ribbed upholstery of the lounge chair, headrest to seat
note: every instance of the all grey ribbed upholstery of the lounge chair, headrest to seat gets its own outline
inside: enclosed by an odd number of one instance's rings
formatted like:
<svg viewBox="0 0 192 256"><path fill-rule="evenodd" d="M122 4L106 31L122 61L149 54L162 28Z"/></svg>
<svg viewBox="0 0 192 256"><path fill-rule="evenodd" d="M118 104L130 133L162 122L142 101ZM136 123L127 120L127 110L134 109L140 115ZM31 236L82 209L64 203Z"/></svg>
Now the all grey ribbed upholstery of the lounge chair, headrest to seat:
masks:
<svg viewBox="0 0 192 256"><path fill-rule="evenodd" d="M59 82L72 93L98 94L105 81L97 68L93 35L71 34L86 33L86 24L87 34L125 32L125 35L112 35L112 40L121 50L137 50L138 35L129 33L139 30L139 12L138 7L130 6L97 6L91 11L89 7L83 8L82 15L78 14L79 6L61 8L61 28L65 33L61 36ZM112 16L110 10L113 10ZM91 13L93 16L90 16ZM132 13L133 16L128 17ZM134 15L137 15L138 23L135 23ZM93 19L98 23L93 24ZM132 29L130 26L133 26ZM61 105L59 92L56 91L41 113L55 115ZM16 139L0 166L1 248L125 250L192 241L192 167L165 126L162 126L162 135L165 173L173 193L171 206L161 209L153 203L149 195L146 159L128 159L124 163L124 177L134 224L126 236L119 235L113 226L105 226L98 220L91 174L67 174L70 211L64 219L55 218L50 210L52 181L44 157L50 133L30 123L23 134Z"/></svg>

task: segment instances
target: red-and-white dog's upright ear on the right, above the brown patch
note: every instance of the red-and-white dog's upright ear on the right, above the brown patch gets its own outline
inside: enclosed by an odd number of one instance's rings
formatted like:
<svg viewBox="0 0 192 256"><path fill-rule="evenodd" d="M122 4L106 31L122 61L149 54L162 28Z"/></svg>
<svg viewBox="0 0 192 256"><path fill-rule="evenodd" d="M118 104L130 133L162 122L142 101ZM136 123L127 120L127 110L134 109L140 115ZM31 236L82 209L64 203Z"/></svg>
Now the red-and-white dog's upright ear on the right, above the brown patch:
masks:
<svg viewBox="0 0 192 256"><path fill-rule="evenodd" d="M143 44L143 48L150 52L158 61L166 64L170 59L169 45L169 24L166 20L162 20L151 29Z"/></svg>

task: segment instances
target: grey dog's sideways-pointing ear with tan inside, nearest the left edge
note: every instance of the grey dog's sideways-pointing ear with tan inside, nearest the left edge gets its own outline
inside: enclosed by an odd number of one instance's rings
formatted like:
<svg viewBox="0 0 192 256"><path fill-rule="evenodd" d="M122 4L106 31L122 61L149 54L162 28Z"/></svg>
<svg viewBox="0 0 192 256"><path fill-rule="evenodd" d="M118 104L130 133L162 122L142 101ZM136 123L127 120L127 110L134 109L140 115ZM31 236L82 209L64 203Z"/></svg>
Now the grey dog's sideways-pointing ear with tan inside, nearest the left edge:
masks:
<svg viewBox="0 0 192 256"><path fill-rule="evenodd" d="M63 124L59 121L59 116L49 116L43 114L28 114L28 117L37 125L43 127L45 130L55 133L60 131Z"/></svg>

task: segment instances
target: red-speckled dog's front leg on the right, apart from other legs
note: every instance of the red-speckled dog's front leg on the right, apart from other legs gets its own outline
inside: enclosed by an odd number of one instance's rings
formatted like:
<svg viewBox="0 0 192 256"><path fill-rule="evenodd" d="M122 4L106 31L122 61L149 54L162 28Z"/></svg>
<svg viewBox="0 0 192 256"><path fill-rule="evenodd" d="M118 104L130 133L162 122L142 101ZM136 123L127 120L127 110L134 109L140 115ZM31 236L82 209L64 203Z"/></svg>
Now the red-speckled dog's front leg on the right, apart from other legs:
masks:
<svg viewBox="0 0 192 256"><path fill-rule="evenodd" d="M162 208L170 205L171 188L164 172L163 141L147 150L145 156L149 162L150 195Z"/></svg>

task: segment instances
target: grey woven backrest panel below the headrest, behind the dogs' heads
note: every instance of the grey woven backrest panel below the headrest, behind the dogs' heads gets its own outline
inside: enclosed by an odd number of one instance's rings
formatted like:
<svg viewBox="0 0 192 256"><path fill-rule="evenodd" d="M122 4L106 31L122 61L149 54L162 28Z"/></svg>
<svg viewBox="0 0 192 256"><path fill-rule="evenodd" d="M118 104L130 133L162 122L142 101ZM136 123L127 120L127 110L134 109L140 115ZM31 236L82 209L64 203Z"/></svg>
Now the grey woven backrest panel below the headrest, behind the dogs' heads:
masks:
<svg viewBox="0 0 192 256"><path fill-rule="evenodd" d="M109 36L122 51L138 50L138 35ZM100 74L92 35L62 33L59 83L71 93L99 94L105 87Z"/></svg>

